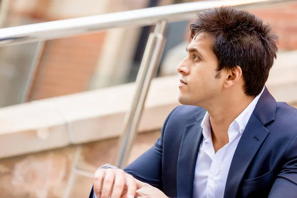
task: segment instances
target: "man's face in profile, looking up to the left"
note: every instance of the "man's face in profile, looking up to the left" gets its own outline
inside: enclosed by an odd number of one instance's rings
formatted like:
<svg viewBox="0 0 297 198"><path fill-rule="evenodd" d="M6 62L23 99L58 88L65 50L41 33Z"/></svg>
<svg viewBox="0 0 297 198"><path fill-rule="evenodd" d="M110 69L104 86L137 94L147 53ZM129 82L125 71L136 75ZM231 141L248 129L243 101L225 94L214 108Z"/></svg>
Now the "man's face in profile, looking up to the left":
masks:
<svg viewBox="0 0 297 198"><path fill-rule="evenodd" d="M188 56L177 70L182 74L179 86L179 102L188 105L205 106L217 98L223 87L219 78L218 59L211 49L213 42L207 33L194 37L187 48Z"/></svg>

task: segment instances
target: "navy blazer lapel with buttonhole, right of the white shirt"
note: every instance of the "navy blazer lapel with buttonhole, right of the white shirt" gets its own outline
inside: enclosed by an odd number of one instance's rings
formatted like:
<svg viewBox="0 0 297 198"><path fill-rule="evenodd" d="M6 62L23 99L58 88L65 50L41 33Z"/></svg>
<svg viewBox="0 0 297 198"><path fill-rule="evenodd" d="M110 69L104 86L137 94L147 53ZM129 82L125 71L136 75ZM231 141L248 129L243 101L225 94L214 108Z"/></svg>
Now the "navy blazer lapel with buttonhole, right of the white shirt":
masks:
<svg viewBox="0 0 297 198"><path fill-rule="evenodd" d="M275 111L276 101L265 88L235 150L226 181L224 198L236 198L247 167L269 134L265 126L275 119Z"/></svg>

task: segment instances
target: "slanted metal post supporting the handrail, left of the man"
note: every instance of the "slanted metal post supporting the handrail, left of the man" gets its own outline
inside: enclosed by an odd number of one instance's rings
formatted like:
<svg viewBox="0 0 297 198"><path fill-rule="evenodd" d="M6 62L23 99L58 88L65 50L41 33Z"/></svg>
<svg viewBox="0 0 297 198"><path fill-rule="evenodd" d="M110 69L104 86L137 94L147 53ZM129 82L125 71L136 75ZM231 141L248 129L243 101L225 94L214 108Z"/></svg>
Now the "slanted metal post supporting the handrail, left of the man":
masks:
<svg viewBox="0 0 297 198"><path fill-rule="evenodd" d="M121 148L116 161L116 166L118 168L124 168L127 164L129 152L133 145L137 127L147 98L149 85L151 79L156 75L161 54L164 49L164 31L166 24L166 21L158 22L156 24L154 33L149 35L148 44L141 63L141 68L136 79L137 90L131 108L126 113L123 132L121 133ZM151 54L153 46L154 50Z"/></svg>

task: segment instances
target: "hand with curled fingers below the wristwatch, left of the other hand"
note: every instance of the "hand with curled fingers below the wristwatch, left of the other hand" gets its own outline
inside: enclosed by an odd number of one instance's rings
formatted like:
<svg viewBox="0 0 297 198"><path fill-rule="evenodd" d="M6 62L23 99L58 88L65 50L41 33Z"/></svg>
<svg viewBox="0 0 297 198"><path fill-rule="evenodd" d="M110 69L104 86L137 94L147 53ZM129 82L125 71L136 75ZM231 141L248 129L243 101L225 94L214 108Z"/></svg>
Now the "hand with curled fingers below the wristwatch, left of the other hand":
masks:
<svg viewBox="0 0 297 198"><path fill-rule="evenodd" d="M94 175L93 188L97 198L134 198L136 181L121 169L98 169Z"/></svg>

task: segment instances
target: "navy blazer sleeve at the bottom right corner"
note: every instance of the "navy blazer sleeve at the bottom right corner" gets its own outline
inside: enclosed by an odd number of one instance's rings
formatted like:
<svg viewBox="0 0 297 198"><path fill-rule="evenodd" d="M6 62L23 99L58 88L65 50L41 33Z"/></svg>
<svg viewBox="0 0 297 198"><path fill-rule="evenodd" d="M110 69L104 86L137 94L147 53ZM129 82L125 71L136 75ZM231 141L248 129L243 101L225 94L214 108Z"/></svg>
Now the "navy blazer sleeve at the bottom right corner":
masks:
<svg viewBox="0 0 297 198"><path fill-rule="evenodd" d="M296 198L297 196L297 137L284 155L285 164L271 188L268 198Z"/></svg>

